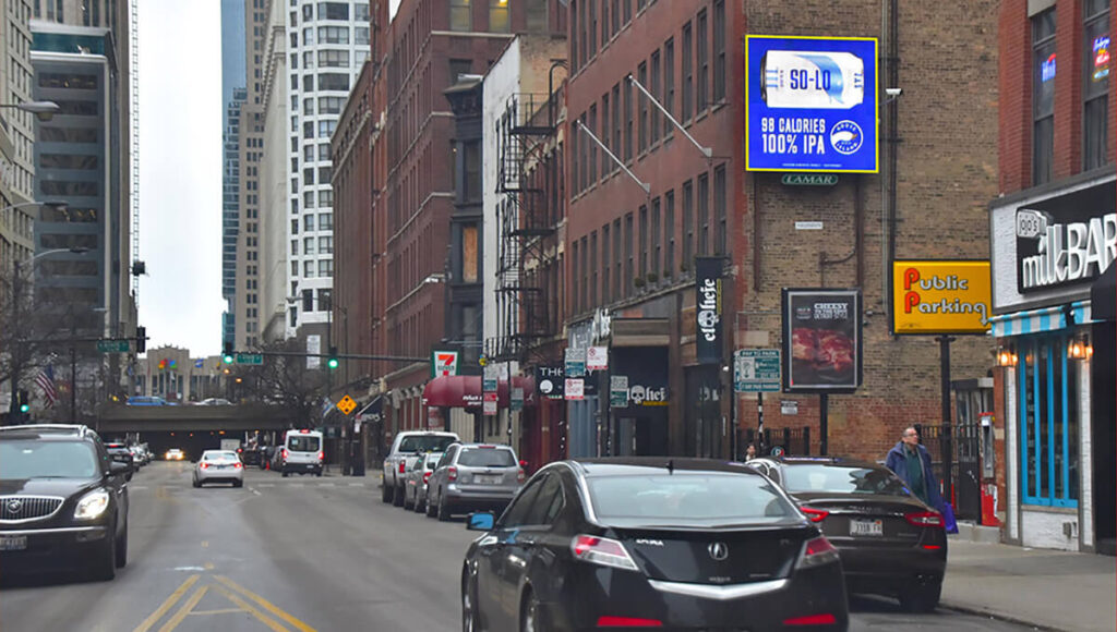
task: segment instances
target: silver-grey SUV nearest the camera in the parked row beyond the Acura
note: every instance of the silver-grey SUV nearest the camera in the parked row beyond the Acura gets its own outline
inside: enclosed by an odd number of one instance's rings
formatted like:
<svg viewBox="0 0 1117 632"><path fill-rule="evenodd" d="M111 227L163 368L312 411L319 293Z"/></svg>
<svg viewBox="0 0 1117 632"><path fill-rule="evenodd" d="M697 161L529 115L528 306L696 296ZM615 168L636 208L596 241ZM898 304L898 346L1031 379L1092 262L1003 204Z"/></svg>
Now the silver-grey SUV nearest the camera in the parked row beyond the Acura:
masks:
<svg viewBox="0 0 1117 632"><path fill-rule="evenodd" d="M512 447L455 443L427 485L427 516L449 520L475 509L503 510L523 482L524 470Z"/></svg>

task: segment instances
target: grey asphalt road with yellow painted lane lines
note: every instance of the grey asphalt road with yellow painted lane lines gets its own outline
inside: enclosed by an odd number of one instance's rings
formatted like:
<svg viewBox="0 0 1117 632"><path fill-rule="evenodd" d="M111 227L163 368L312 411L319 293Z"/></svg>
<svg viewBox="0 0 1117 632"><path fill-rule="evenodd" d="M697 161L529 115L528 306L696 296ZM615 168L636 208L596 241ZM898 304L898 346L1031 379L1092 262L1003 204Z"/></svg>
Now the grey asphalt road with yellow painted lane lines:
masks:
<svg viewBox="0 0 1117 632"><path fill-rule="evenodd" d="M106 583L3 576L0 629L258 631L460 629L458 577L474 534L381 504L379 476L281 478L194 489L190 463L130 485L128 565ZM939 611L856 599L851 630L1013 631Z"/></svg>

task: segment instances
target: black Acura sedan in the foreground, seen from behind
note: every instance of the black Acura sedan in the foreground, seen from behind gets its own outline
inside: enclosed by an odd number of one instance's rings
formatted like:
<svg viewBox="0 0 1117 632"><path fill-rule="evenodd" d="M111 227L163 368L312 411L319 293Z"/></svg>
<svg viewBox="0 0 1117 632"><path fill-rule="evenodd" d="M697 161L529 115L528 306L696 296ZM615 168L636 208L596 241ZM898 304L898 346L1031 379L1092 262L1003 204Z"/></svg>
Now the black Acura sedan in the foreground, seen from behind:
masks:
<svg viewBox="0 0 1117 632"><path fill-rule="evenodd" d="M841 564L741 463L615 458L541 469L461 571L462 630L846 630Z"/></svg>

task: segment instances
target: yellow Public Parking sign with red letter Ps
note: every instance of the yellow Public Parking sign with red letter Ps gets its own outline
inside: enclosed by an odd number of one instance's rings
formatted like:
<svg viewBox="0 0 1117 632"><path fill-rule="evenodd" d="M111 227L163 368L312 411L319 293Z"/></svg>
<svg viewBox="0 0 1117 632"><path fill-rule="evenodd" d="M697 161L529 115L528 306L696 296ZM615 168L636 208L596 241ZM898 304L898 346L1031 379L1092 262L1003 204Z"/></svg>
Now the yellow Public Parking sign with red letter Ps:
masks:
<svg viewBox="0 0 1117 632"><path fill-rule="evenodd" d="M894 261L892 332L984 334L993 316L989 261Z"/></svg>

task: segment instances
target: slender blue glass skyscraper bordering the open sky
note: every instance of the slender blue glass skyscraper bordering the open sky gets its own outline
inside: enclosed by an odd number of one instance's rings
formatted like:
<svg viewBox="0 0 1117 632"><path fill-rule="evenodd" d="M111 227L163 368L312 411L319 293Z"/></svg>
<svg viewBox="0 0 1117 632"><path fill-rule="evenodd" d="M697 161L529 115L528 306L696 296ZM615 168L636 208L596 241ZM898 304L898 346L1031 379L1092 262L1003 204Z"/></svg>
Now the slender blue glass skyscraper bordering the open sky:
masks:
<svg viewBox="0 0 1117 632"><path fill-rule="evenodd" d="M240 234L240 111L247 98L245 82L244 0L221 0L221 103L223 169L221 175L221 341L235 343L237 333L237 237Z"/></svg>

